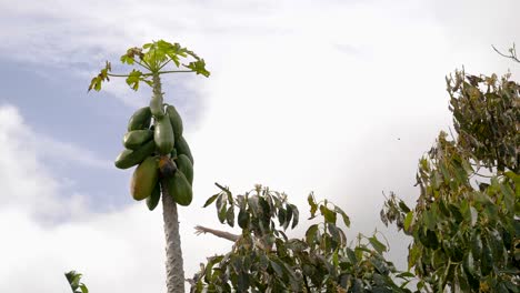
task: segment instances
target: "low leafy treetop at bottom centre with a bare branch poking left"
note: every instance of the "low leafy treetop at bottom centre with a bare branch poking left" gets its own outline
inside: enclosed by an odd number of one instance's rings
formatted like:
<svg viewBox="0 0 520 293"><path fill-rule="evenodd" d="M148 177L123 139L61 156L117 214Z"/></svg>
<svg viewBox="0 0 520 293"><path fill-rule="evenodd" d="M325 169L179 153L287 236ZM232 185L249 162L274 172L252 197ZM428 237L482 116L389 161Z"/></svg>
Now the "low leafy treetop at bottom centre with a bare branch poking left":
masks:
<svg viewBox="0 0 520 293"><path fill-rule="evenodd" d="M308 196L311 224L303 239L290 239L288 229L299 224L300 212L284 193L257 185L233 196L217 184L219 193L208 199L214 203L221 223L241 228L231 233L198 226L233 242L231 251L208 259L189 281L191 292L410 292L412 276L399 272L383 257L388 250L376 235L359 235L348 245L342 225L349 216L328 200ZM397 282L401 280L402 282Z"/></svg>

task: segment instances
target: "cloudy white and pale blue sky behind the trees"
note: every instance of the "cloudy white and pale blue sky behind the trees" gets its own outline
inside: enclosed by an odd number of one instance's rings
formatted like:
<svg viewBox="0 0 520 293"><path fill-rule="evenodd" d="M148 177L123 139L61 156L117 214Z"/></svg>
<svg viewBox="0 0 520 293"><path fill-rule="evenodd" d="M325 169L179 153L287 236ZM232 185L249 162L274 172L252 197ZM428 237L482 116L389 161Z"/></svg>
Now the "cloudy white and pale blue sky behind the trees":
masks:
<svg viewBox="0 0 520 293"><path fill-rule="evenodd" d="M113 159L151 91L111 80L87 92L106 60L164 39L207 62L210 78L164 77L184 121L194 199L180 208L186 276L231 243L218 190L261 183L289 194L304 232L307 195L351 218L350 240L377 229L406 269L408 239L379 221L390 191L413 205L418 160L448 131L446 75L520 67L493 52L520 42L516 0L7 1L0 0L0 292L166 292L161 210L129 194ZM116 67L117 69L123 69Z"/></svg>

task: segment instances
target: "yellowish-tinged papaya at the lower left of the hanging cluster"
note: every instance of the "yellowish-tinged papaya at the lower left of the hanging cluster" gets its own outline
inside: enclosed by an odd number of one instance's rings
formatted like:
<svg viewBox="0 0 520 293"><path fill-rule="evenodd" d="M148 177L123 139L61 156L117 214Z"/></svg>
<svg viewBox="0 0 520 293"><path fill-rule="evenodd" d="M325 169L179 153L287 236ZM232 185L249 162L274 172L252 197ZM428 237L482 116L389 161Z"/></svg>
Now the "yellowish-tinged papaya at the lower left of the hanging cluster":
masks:
<svg viewBox="0 0 520 293"><path fill-rule="evenodd" d="M142 201L150 196L159 181L159 168L156 156L148 156L133 171L130 181L130 194L136 201Z"/></svg>

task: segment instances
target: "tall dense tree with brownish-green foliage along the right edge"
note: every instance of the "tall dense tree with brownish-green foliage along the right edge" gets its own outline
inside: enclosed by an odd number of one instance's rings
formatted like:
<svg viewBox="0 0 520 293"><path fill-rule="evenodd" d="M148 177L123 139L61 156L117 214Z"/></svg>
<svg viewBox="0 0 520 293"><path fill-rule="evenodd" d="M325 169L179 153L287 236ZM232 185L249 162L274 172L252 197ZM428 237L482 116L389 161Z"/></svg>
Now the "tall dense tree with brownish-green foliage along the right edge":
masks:
<svg viewBox="0 0 520 293"><path fill-rule="evenodd" d="M384 203L382 221L412 238L419 290L520 291L520 84L510 78L448 77L456 135L441 132L419 161L413 209L394 194Z"/></svg>

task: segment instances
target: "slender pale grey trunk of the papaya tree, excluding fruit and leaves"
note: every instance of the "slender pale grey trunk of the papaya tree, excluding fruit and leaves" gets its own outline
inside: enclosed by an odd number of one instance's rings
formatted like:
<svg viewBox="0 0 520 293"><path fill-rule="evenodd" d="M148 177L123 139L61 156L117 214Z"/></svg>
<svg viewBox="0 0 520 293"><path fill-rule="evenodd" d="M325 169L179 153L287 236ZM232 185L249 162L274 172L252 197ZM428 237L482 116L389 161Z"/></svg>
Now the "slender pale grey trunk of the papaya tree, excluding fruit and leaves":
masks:
<svg viewBox="0 0 520 293"><path fill-rule="evenodd" d="M162 89L159 74L153 75L153 97L160 99L162 104ZM162 190L162 219L164 220L166 236L166 270L168 293L184 293L184 269L179 234L179 215L177 204L168 193L164 182Z"/></svg>

